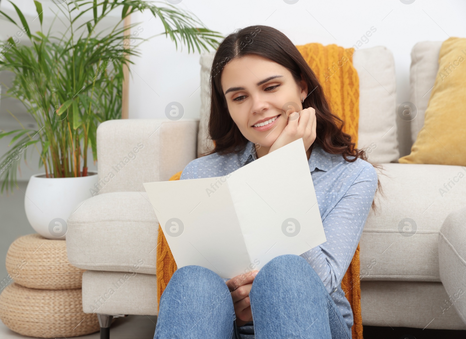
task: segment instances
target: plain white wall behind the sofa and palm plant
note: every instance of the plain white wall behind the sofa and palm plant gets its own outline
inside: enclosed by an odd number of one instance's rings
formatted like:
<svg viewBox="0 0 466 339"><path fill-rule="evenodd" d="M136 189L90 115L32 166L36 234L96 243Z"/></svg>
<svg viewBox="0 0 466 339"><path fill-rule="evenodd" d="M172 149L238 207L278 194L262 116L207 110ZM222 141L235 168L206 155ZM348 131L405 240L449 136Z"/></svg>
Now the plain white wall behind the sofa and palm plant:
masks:
<svg viewBox="0 0 466 339"><path fill-rule="evenodd" d="M28 14L28 20L34 19L36 13L32 0L14 2ZM158 5L164 6L164 1ZM351 47L374 26L377 32L360 48L382 45L392 51L397 73L397 104L409 101L410 53L416 42L443 41L449 36L466 37L465 0L414 0L409 5L401 0L298 0L293 5L284 0L182 0L176 6L191 11L206 27L224 36L237 28L267 25L281 30L295 45L320 42ZM0 9L17 18L6 0L0 1ZM118 14L115 13L112 20L117 20ZM132 32L142 31L140 37L149 38L164 32L160 19L149 11L134 13L131 20L139 23ZM14 32L13 25L0 20L0 39L6 39ZM177 101L184 106L186 119L199 119L198 51L188 53L187 47L179 44L177 50L170 37L164 35L144 42L139 50L142 56L132 59L136 65L130 70L130 118L165 118L165 106ZM0 128L7 129L10 125L18 128L6 107L18 113L23 123L33 123L21 104L3 100L3 104L0 102ZM3 144L0 142L0 152L5 150ZM400 155L407 151L409 153L409 148L402 150ZM27 180L31 174L40 172L36 168L36 159L33 157L28 161L31 168L22 166L24 171L19 179ZM95 168L91 165L89 170Z"/></svg>

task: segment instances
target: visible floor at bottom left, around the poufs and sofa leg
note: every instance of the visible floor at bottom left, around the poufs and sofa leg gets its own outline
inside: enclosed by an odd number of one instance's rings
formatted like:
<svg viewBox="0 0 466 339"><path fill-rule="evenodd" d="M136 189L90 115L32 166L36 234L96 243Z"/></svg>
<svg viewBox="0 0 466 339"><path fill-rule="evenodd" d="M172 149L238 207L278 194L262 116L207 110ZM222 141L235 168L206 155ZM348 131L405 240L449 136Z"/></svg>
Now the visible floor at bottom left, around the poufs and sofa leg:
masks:
<svg viewBox="0 0 466 339"><path fill-rule="evenodd" d="M153 339L156 322L156 316L130 315L126 318L117 318L111 326L110 339ZM0 338L18 339L31 337L25 337L9 330L7 326L3 325L0 321ZM96 332L94 334L74 338L99 339L100 334L99 332Z"/></svg>

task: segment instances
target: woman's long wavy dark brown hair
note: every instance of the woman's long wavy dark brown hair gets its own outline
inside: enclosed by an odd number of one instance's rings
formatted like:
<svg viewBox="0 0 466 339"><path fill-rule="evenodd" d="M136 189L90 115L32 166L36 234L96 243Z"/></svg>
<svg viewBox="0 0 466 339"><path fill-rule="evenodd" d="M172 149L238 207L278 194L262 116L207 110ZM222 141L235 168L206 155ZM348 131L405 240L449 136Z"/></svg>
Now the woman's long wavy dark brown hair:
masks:
<svg viewBox="0 0 466 339"><path fill-rule="evenodd" d="M303 79L308 84L308 89L313 88L302 103L302 108L313 107L315 109L316 138L314 143L320 145L328 153L342 154L346 161L353 162L357 158L368 161L365 151L355 148L356 144L351 142L351 135L343 132L344 121L331 112L315 73L293 42L277 29L262 25L236 30L229 34L217 48L210 75L211 106L208 123L208 131L214 148L201 156L213 153L238 153L248 142L231 118L220 82L222 70L226 64L247 54L256 54L275 61L291 72L298 86ZM349 156L354 158L348 159ZM372 164L372 166L383 168L380 164ZM377 190L382 190L380 180L377 180ZM372 209L375 210L375 208L373 200Z"/></svg>

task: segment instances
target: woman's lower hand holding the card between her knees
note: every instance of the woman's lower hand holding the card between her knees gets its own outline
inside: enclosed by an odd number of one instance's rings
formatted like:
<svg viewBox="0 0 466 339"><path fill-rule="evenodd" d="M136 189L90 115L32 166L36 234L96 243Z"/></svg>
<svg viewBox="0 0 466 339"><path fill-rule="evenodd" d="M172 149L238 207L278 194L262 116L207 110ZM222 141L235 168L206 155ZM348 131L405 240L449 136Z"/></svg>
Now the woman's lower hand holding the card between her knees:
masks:
<svg viewBox="0 0 466 339"><path fill-rule="evenodd" d="M259 271L252 271L248 274L240 274L226 281L226 286L228 286L233 299L233 307L236 314L236 326L238 327L253 320L249 292L251 291L254 278L258 272Z"/></svg>

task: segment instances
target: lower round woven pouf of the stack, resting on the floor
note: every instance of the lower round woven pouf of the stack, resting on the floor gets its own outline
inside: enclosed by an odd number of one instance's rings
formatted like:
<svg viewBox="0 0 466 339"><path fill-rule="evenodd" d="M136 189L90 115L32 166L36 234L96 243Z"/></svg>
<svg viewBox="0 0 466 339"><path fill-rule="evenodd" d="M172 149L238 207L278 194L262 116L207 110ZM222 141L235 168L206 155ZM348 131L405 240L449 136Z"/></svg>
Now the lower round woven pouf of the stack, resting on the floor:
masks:
<svg viewBox="0 0 466 339"><path fill-rule="evenodd" d="M76 337L99 331L97 315L82 312L81 300L81 288L39 290L13 283L0 294L0 319L10 330L29 337Z"/></svg>

